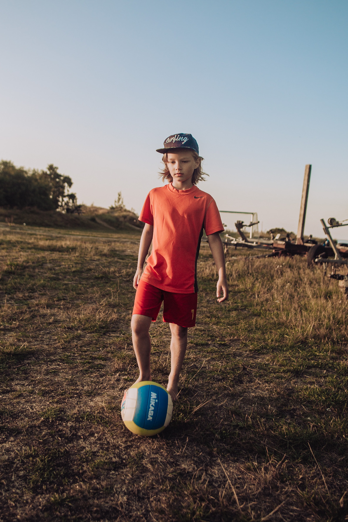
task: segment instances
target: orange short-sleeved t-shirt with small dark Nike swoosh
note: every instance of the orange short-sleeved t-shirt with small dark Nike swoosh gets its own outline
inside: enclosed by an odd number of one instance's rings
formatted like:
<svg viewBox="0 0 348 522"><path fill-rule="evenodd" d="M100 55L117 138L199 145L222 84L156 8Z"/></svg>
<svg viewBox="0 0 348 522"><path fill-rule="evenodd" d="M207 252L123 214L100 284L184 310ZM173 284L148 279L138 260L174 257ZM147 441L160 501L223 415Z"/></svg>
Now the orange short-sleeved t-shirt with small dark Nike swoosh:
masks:
<svg viewBox="0 0 348 522"><path fill-rule="evenodd" d="M153 225L152 252L141 278L167 292L197 292L203 229L207 235L224 230L214 199L195 185L178 191L170 183L149 192L139 221Z"/></svg>

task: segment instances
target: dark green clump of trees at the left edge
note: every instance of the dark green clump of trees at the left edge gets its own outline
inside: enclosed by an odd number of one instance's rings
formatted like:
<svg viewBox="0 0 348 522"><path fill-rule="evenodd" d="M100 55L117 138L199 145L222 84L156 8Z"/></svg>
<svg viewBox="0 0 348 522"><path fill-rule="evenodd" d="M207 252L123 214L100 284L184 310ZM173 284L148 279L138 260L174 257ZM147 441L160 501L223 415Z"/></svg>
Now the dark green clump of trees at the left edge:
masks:
<svg viewBox="0 0 348 522"><path fill-rule="evenodd" d="M71 177L59 174L52 163L46 170L26 170L0 161L0 207L79 212L76 194L69 192L72 185Z"/></svg>

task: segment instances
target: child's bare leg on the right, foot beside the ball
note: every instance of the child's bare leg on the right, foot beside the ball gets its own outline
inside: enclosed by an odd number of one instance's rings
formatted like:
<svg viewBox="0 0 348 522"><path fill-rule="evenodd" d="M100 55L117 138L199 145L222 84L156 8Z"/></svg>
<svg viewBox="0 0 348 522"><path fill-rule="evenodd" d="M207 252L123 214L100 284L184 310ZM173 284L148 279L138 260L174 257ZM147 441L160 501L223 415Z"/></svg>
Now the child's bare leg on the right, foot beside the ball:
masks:
<svg viewBox="0 0 348 522"><path fill-rule="evenodd" d="M168 377L167 392L173 400L177 399L179 375L183 366L187 348L187 328L169 323L172 332L171 340L171 373Z"/></svg>

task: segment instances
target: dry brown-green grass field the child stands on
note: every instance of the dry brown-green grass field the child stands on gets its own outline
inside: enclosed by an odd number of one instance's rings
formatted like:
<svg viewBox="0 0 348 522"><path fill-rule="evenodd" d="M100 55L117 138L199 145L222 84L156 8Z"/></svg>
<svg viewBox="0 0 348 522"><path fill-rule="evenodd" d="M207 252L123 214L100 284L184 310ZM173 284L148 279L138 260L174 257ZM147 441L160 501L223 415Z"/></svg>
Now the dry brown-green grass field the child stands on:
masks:
<svg viewBox="0 0 348 522"><path fill-rule="evenodd" d="M139 237L0 228L0 520L348 520L337 281L303 258L232 251L219 305L203 244L173 420L141 438L120 412L137 377ZM153 379L166 384L169 326L150 333Z"/></svg>

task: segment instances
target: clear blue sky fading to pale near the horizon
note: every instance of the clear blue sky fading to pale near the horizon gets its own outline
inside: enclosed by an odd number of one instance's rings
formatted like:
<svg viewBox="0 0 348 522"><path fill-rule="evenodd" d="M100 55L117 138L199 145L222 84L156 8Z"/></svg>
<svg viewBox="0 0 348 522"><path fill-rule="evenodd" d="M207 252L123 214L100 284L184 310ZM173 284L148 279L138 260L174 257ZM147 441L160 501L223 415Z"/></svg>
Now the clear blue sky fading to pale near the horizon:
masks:
<svg viewBox="0 0 348 522"><path fill-rule="evenodd" d="M311 163L306 233L348 218L346 0L6 0L0 19L1 159L139 212L186 132L219 208L296 231Z"/></svg>

